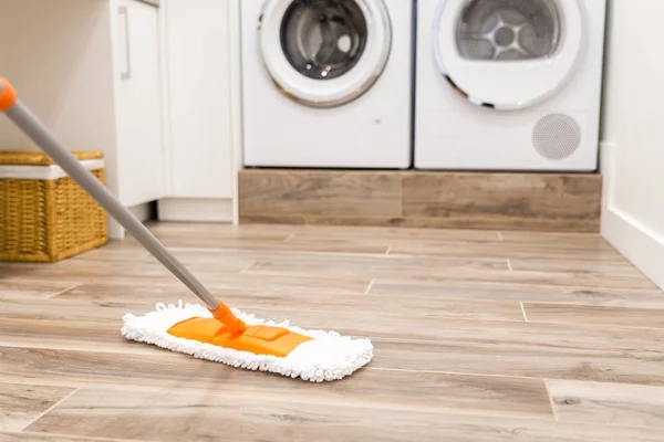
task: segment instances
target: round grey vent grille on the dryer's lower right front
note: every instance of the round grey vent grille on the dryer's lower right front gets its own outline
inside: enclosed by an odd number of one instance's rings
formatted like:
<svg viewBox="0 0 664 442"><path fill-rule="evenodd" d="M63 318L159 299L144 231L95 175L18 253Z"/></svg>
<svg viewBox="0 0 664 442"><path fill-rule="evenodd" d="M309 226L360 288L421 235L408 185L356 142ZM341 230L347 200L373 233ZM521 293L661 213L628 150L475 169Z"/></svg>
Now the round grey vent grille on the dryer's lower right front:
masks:
<svg viewBox="0 0 664 442"><path fill-rule="evenodd" d="M553 114L539 120L532 131L532 144L544 158L564 159L581 144L581 128L568 115Z"/></svg>

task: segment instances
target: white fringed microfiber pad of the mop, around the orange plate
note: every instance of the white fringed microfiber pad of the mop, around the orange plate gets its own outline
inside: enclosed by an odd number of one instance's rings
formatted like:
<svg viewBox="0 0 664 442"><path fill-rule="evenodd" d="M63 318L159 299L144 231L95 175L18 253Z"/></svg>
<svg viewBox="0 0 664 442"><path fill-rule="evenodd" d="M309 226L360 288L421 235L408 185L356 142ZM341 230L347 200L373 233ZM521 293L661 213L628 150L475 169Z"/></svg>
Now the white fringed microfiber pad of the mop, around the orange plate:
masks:
<svg viewBox="0 0 664 442"><path fill-rule="evenodd" d="M300 344L288 356L281 358L176 337L168 334L168 329L175 324L193 317L212 317L207 308L197 304L183 305L181 301L178 305L157 304L154 312L144 316L125 315L122 335L131 340L152 344L199 359L247 370L270 371L291 378L302 378L311 382L343 379L373 358L373 345L369 339L351 339L335 332L305 330L293 327L288 322L278 324L256 318L235 308L231 311L248 326L282 327L313 339Z"/></svg>

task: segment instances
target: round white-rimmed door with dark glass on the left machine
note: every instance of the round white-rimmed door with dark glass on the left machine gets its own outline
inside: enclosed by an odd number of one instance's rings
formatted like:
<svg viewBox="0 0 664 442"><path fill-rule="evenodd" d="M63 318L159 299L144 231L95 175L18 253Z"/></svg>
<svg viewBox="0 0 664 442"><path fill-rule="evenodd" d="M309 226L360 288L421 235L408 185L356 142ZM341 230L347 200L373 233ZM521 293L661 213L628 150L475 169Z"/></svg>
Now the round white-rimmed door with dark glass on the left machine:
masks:
<svg viewBox="0 0 664 442"><path fill-rule="evenodd" d="M259 29L277 86L315 107L339 106L369 91L392 46L383 0L267 0Z"/></svg>

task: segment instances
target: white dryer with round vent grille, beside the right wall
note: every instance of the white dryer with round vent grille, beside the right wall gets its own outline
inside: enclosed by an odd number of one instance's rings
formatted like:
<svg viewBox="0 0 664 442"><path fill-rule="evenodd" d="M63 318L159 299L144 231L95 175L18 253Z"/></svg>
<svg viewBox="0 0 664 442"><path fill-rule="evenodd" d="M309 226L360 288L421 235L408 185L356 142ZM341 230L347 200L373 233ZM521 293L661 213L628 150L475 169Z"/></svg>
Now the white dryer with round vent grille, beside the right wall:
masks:
<svg viewBox="0 0 664 442"><path fill-rule="evenodd" d="M606 0L418 0L415 167L598 167Z"/></svg>

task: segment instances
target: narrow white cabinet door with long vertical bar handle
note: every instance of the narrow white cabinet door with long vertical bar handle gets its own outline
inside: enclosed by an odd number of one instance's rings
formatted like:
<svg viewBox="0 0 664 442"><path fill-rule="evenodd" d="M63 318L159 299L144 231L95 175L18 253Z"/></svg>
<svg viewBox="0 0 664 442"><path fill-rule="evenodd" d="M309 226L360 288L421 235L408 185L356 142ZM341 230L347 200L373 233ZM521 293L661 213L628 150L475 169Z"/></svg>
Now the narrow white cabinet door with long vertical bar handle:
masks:
<svg viewBox="0 0 664 442"><path fill-rule="evenodd" d="M117 188L135 206L166 196L159 9L120 0L116 19Z"/></svg>

